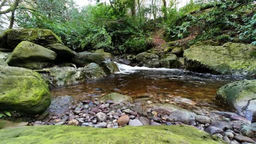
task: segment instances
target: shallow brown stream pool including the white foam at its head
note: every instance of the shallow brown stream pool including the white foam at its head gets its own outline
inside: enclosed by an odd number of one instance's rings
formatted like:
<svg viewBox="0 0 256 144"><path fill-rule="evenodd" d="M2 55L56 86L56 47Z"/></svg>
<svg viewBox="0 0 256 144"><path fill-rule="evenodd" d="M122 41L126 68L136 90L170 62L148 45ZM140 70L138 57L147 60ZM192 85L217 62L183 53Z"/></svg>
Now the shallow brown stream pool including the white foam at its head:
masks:
<svg viewBox="0 0 256 144"><path fill-rule="evenodd" d="M117 92L145 103L170 103L185 109L202 107L225 110L214 101L217 89L236 81L230 76L191 73L178 69L152 69L118 64L121 72L81 85L54 88L53 97L72 95L78 100L99 98Z"/></svg>

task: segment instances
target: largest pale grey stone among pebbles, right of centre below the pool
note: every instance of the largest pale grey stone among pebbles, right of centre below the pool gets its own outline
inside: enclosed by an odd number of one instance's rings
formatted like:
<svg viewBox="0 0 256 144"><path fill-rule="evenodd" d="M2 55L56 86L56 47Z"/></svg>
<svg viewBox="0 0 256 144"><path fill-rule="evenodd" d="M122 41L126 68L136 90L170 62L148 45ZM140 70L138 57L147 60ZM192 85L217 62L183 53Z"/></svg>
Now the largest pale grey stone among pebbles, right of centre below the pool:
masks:
<svg viewBox="0 0 256 144"><path fill-rule="evenodd" d="M169 118L184 124L190 124L191 121L195 121L195 116L193 112L177 110L172 112Z"/></svg>

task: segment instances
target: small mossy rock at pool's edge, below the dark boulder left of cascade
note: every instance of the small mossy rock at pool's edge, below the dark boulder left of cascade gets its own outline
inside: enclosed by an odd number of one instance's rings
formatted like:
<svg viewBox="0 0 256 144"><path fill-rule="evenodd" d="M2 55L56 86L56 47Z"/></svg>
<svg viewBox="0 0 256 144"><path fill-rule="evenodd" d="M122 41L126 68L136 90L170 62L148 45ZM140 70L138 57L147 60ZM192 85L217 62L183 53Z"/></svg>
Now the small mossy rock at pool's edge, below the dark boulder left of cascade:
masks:
<svg viewBox="0 0 256 144"><path fill-rule="evenodd" d="M82 69L82 73L87 79L98 79L106 76L104 70L96 63L90 63L86 65L86 67L80 69Z"/></svg>

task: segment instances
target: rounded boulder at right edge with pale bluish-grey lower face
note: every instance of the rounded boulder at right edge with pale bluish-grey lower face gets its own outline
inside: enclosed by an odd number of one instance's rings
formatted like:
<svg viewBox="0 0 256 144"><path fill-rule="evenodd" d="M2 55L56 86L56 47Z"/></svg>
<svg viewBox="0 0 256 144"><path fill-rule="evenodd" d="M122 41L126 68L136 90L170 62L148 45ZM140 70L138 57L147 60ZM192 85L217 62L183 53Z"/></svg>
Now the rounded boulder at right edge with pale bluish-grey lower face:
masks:
<svg viewBox="0 0 256 144"><path fill-rule="evenodd" d="M216 99L251 121L256 111L256 80L237 81L220 87Z"/></svg>

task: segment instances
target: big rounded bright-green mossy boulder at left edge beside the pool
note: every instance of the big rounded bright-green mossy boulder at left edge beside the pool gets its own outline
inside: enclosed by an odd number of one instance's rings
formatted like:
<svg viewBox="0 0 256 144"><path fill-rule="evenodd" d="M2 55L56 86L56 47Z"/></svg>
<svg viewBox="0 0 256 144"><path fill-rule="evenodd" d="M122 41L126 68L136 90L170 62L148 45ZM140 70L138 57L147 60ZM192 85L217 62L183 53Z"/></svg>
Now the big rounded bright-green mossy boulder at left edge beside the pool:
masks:
<svg viewBox="0 0 256 144"><path fill-rule="evenodd" d="M37 114L51 104L41 75L25 68L0 66L0 110Z"/></svg>

